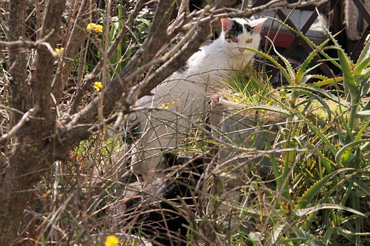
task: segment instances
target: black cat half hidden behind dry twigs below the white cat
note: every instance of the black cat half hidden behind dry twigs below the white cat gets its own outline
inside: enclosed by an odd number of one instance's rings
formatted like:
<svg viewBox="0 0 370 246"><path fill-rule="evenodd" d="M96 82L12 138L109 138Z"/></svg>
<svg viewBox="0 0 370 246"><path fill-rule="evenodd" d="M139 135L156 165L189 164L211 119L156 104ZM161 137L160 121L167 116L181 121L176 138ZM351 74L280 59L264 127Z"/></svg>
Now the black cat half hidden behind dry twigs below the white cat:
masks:
<svg viewBox="0 0 370 246"><path fill-rule="evenodd" d="M125 202L125 225L154 245L186 245L188 211L197 204L204 165L212 159L163 154L167 176ZM186 206L186 209L182 209ZM190 212L192 213L192 212ZM193 215L192 215L193 216Z"/></svg>

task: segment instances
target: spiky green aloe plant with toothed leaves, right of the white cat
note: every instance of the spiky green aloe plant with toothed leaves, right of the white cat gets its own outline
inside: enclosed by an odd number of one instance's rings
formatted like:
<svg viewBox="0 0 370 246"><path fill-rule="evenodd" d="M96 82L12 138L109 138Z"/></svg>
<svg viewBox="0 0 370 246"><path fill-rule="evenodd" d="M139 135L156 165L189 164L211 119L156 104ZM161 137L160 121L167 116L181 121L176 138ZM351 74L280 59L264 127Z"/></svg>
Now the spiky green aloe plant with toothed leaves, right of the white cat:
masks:
<svg viewBox="0 0 370 246"><path fill-rule="evenodd" d="M260 230L247 230L245 238L254 245L338 245L342 240L365 245L362 239L370 236L365 230L370 226L369 208L363 206L370 202L370 102L365 99L370 92L370 42L355 62L329 31L328 39L316 45L281 20L273 20L303 38L314 51L295 69L274 46L282 64L262 51L243 48L271 61L288 81L282 88L285 101L269 98L287 116L286 126L276 139L285 150L280 156L269 152L277 193L264 187L265 206L246 207L246 203L240 208L245 215L260 221L256 222ZM330 57L328 50L335 50L338 57ZM318 54L322 61L339 68L340 76L310 74L318 66L312 66L312 59ZM336 90L323 90L325 85ZM340 92L342 87L344 91ZM312 116L313 101L327 112L326 119ZM260 107L269 110L265 105L247 109ZM269 143L267 150L273 150ZM253 191L249 192L247 197L252 196Z"/></svg>

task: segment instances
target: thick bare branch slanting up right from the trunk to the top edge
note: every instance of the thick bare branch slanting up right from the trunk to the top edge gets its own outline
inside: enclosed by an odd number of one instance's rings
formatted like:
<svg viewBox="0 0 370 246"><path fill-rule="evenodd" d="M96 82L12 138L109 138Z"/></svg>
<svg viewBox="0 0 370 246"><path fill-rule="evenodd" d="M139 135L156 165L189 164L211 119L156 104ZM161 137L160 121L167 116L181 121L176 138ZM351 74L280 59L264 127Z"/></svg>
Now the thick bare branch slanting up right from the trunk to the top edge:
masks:
<svg viewBox="0 0 370 246"><path fill-rule="evenodd" d="M90 135L87 125L92 125L98 118L98 107L100 97L104 97L103 114L107 117L112 113L117 106L125 92L131 89L134 81L126 81L125 77L131 74L136 68L142 64L146 64L156 56L158 51L164 44L167 44L169 37L167 37L167 26L171 20L174 1L161 0L156 6L156 14L153 18L153 25L149 35L145 39L143 45L128 62L127 66L123 68L119 77L108 83L108 86L101 92L93 102L85 107L79 113L71 115L69 119L64 121L64 129L60 131L60 143L58 143L58 150L64 152L66 146L73 146L81 139L85 139ZM173 72L173 71L172 71ZM123 82L124 81L124 82ZM127 110L126 110L127 111ZM69 122L66 124L66 122Z"/></svg>

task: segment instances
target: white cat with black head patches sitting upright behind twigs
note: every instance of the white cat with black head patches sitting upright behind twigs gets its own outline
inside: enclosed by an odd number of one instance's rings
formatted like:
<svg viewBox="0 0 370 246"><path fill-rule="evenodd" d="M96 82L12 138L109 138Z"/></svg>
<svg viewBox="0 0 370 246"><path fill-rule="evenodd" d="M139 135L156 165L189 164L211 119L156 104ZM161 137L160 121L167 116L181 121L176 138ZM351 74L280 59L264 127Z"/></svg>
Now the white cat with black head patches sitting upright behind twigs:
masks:
<svg viewBox="0 0 370 246"><path fill-rule="evenodd" d="M226 77L230 70L243 69L252 61L254 52L242 47L258 49L266 19L221 18L222 32L217 40L194 53L182 68L152 90L153 96L137 100L135 107L162 107L159 111L138 111L129 116L141 131L134 144L131 165L140 182L155 179L161 150L179 145L190 121L198 120L204 113L207 96L223 87L221 77Z"/></svg>

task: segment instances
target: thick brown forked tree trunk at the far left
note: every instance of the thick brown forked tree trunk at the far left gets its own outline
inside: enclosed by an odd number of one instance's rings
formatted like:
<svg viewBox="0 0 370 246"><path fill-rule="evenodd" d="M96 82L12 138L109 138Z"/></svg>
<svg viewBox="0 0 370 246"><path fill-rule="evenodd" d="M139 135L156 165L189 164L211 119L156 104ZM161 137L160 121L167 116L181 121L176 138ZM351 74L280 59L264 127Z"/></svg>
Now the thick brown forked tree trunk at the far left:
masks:
<svg viewBox="0 0 370 246"><path fill-rule="evenodd" d="M56 46L60 30L60 18L65 0L49 1L42 23L41 38ZM24 35L24 19L27 1L10 2L9 26L12 40ZM25 191L40 180L45 170L53 164L53 130L56 123L56 105L51 97L53 77L53 53L40 46L31 80L27 79L25 53L21 49L10 50L10 75L12 77L12 105L21 112L33 108L34 118L24 121L16 133L16 147L0 180L0 245L12 245L22 220L27 202ZM17 115L20 122L22 115Z"/></svg>

